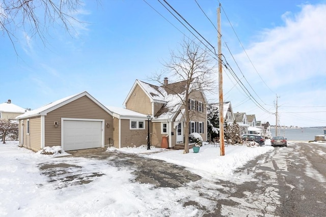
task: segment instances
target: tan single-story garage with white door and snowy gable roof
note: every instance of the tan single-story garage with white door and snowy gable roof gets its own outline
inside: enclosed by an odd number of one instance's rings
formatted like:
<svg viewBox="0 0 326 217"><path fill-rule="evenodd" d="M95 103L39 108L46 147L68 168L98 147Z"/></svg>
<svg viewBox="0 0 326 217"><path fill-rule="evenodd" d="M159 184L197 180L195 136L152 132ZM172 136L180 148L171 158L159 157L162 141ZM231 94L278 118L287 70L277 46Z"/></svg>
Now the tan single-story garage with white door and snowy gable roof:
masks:
<svg viewBox="0 0 326 217"><path fill-rule="evenodd" d="M17 116L19 144L35 151L45 146L104 147L113 138L113 117L85 91Z"/></svg>

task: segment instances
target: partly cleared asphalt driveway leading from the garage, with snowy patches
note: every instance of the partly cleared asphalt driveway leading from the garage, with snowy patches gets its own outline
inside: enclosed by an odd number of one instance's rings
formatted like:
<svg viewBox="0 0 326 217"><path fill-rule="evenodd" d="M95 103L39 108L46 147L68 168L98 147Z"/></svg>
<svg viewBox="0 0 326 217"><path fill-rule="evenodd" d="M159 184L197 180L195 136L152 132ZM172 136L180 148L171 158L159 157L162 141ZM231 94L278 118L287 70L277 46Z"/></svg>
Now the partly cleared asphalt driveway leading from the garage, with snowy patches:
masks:
<svg viewBox="0 0 326 217"><path fill-rule="evenodd" d="M182 166L165 161L139 157L137 154L123 152L108 152L105 148L83 149L67 151L70 158L90 158L106 161L110 166L118 169L133 169L134 181L149 183L156 188L179 188L185 183L201 179L199 175L191 173ZM65 188L71 184L85 184L102 176L100 172L85 171L83 167L64 162L40 164L39 168L50 182L58 182L58 188Z"/></svg>

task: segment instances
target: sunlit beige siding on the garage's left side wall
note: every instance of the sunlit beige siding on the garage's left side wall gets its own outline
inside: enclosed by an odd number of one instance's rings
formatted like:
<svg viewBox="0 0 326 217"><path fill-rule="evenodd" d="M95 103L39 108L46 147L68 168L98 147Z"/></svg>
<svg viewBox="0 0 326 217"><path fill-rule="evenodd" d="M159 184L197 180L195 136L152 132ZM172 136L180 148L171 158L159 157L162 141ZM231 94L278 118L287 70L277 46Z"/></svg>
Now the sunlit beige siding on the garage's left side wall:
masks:
<svg viewBox="0 0 326 217"><path fill-rule="evenodd" d="M41 117L32 117L30 119L30 134L26 134L27 119L24 119L24 138L23 147L39 151L41 150Z"/></svg>

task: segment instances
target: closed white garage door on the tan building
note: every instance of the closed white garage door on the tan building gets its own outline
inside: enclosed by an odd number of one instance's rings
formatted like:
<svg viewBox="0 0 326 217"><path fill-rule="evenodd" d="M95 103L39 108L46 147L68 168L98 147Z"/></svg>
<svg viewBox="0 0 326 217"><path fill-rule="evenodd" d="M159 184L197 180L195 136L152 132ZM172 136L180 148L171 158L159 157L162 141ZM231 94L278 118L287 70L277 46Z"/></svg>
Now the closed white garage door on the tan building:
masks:
<svg viewBox="0 0 326 217"><path fill-rule="evenodd" d="M63 128L65 151L101 147L101 121L64 120Z"/></svg>

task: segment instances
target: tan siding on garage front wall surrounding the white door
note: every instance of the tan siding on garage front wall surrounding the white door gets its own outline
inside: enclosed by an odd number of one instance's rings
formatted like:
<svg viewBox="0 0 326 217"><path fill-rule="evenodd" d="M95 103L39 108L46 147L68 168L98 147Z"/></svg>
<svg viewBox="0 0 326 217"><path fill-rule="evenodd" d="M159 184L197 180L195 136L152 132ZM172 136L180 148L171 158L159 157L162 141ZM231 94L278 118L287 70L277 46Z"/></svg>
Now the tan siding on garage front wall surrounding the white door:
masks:
<svg viewBox="0 0 326 217"><path fill-rule="evenodd" d="M87 96L72 101L45 116L45 146L61 146L61 118L104 119L104 145L108 145L109 138L113 139L113 118L105 110L95 104ZM55 128L53 122L58 121ZM110 127L106 127L106 123Z"/></svg>

